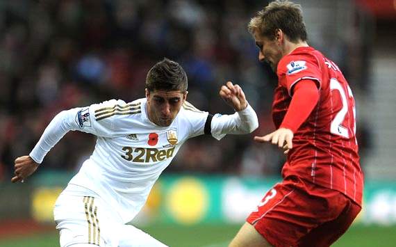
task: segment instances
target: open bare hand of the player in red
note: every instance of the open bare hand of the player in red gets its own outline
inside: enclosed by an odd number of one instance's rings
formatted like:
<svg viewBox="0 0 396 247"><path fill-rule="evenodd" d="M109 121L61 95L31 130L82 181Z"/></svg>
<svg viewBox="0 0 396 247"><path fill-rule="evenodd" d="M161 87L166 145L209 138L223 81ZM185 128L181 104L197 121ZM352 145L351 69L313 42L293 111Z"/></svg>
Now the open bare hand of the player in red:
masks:
<svg viewBox="0 0 396 247"><path fill-rule="evenodd" d="M283 148L283 153L287 154L293 148L293 136L294 134L290 129L280 128L265 136L254 136L254 141L258 143L271 141L272 144L278 145L279 148Z"/></svg>

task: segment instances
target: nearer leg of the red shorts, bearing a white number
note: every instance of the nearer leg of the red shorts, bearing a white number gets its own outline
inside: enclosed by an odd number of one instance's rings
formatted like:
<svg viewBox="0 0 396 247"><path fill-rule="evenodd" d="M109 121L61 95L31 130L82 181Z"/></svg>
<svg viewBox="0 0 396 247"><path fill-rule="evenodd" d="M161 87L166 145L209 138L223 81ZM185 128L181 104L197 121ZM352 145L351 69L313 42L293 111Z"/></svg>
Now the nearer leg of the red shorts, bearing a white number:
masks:
<svg viewBox="0 0 396 247"><path fill-rule="evenodd" d="M338 215L329 210L327 198L307 191L309 186L315 187L297 177L283 180L267 192L247 222L273 246L297 245L317 225Z"/></svg>

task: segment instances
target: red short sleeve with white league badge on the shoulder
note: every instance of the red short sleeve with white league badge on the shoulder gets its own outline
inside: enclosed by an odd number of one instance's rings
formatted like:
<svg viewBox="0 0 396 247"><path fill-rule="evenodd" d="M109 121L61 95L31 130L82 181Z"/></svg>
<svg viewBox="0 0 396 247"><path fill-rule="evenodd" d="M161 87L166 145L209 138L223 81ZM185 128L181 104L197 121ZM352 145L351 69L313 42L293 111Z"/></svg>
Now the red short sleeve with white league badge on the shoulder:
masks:
<svg viewBox="0 0 396 247"><path fill-rule="evenodd" d="M292 95L295 83L302 79L317 81L317 88L321 86L321 71L315 56L311 54L296 54L285 56L279 61L277 70L279 83L288 89Z"/></svg>

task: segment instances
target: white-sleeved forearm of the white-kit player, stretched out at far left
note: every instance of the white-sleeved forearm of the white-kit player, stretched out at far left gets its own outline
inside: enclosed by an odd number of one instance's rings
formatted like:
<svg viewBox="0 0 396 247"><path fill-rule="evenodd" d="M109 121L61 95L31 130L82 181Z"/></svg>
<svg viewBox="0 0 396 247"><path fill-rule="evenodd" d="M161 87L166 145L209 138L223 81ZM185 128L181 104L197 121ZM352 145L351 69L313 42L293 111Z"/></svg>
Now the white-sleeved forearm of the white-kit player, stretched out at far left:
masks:
<svg viewBox="0 0 396 247"><path fill-rule="evenodd" d="M73 119L76 109L61 111L53 118L44 130L40 140L35 145L29 156L38 164L41 164L45 155L53 148L67 132L74 129Z"/></svg>

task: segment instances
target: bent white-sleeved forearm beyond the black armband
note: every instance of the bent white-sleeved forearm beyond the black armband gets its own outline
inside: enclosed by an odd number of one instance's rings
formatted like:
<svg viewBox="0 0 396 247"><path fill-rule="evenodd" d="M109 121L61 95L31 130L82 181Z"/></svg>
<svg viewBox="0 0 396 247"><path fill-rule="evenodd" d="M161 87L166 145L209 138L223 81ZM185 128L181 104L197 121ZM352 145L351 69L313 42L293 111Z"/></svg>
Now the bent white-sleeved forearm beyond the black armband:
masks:
<svg viewBox="0 0 396 247"><path fill-rule="evenodd" d="M257 114L249 104L233 115L215 115L212 120L212 133L248 134L257 127Z"/></svg>

